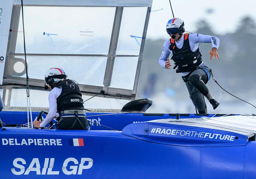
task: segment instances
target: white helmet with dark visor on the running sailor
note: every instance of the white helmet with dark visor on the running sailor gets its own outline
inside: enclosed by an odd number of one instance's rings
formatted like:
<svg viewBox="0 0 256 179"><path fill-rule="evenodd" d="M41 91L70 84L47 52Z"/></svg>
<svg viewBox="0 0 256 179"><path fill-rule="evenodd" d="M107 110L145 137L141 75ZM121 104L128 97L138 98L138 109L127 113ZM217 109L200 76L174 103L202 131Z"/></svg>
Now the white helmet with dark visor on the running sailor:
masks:
<svg viewBox="0 0 256 179"><path fill-rule="evenodd" d="M169 35L185 32L184 22L180 18L172 18L166 24L166 31Z"/></svg>

